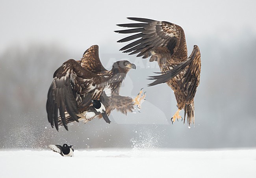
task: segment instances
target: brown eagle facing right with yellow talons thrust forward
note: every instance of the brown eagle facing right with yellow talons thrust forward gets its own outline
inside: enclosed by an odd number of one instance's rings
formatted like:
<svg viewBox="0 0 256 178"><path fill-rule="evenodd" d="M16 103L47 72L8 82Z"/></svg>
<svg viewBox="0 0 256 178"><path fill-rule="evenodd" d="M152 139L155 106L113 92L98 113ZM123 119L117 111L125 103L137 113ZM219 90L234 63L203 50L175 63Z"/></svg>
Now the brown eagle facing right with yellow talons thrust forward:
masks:
<svg viewBox="0 0 256 178"><path fill-rule="evenodd" d="M140 98L145 96L133 99L119 95L130 69L136 66L129 61L117 61L111 70L106 70L100 62L98 45L87 49L81 60L69 59L63 63L54 72L47 96L46 111L52 128L55 125L59 130L59 126L64 126L68 130L70 122L86 123L95 117L103 117L110 123L108 115L114 109L127 114L135 105L140 106Z"/></svg>

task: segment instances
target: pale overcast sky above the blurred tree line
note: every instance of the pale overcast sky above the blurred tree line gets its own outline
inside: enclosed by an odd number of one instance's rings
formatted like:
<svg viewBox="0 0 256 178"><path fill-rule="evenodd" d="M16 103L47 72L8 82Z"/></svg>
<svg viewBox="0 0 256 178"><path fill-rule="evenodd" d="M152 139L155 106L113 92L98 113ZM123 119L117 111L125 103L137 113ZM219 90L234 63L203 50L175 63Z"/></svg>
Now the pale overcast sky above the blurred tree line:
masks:
<svg viewBox="0 0 256 178"><path fill-rule="evenodd" d="M192 39L212 36L225 41L256 34L253 0L1 0L0 53L14 44L31 43L57 43L77 52L93 44L111 45L108 52L115 53L122 46L116 43L121 36L113 32L120 29L115 24L131 22L126 17L173 22Z"/></svg>

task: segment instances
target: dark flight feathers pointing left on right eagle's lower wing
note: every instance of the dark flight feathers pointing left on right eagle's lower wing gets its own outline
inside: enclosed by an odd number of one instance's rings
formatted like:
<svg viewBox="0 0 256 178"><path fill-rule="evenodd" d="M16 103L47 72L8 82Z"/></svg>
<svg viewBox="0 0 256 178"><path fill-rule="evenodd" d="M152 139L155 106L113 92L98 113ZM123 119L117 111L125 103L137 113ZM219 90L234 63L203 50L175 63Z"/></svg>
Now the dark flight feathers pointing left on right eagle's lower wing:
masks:
<svg viewBox="0 0 256 178"><path fill-rule="evenodd" d="M189 63L191 62L191 59L187 59L184 62L179 63L178 65L172 66L173 69L167 71L167 72L155 72L155 73L159 73L161 75L158 76L149 76L149 80L156 80L150 84L148 84L148 86L154 86L154 85L158 85L160 83L166 83L169 80L171 80L172 78L174 78L176 75L178 75L182 70L185 69L185 67L187 67L187 65L189 65Z"/></svg>

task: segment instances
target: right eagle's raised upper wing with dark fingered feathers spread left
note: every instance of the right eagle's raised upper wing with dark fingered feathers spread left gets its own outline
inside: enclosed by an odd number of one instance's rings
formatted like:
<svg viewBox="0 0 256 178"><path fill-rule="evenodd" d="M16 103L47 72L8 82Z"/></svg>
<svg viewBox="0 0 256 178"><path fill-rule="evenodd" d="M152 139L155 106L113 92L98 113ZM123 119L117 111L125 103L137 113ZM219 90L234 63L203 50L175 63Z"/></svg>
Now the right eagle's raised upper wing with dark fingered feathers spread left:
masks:
<svg viewBox="0 0 256 178"><path fill-rule="evenodd" d="M171 22L156 21L151 19L134 18L128 17L130 20L135 20L138 22L145 23L132 23L132 24L118 24L117 26L128 27L132 29L128 30L117 30L117 33L137 33L129 37L123 38L118 43L132 41L138 39L120 50L124 53L129 53L129 55L137 54L137 57L143 56L142 58L147 58L151 56L150 51L156 47L167 47L171 55L176 51L180 44L180 39L184 36L183 29ZM150 61L157 60L156 56L152 56Z"/></svg>

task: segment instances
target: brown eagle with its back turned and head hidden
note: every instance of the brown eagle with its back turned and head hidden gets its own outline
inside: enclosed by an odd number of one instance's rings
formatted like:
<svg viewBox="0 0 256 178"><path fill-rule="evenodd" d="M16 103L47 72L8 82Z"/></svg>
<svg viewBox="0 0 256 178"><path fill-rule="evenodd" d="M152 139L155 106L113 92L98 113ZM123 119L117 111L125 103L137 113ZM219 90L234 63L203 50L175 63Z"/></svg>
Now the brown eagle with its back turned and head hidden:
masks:
<svg viewBox="0 0 256 178"><path fill-rule="evenodd" d="M186 38L183 29L171 22L142 18L128 18L143 23L119 24L117 26L132 29L118 30L117 33L136 33L117 42L136 41L120 50L124 53L137 54L137 57L150 57L150 62L157 61L160 66L160 76L150 76L156 80L149 86L167 83L174 91L178 103L178 111L173 115L172 123L182 118L180 111L184 109L184 123L195 124L194 97L200 81L201 59L197 45L187 57Z"/></svg>

